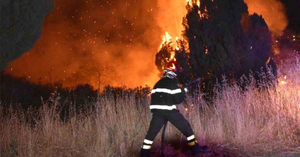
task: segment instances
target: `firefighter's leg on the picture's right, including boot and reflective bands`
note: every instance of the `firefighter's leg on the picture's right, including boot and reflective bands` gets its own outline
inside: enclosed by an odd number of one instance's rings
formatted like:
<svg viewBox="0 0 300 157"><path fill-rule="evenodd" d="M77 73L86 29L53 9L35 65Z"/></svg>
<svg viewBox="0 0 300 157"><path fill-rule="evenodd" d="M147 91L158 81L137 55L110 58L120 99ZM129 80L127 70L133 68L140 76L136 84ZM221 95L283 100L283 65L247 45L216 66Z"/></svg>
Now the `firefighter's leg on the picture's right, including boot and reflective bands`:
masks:
<svg viewBox="0 0 300 157"><path fill-rule="evenodd" d="M180 112L167 113L167 120L170 121L179 131L187 137L187 143L191 146L193 156L197 156L208 149L207 146L199 146L190 123Z"/></svg>

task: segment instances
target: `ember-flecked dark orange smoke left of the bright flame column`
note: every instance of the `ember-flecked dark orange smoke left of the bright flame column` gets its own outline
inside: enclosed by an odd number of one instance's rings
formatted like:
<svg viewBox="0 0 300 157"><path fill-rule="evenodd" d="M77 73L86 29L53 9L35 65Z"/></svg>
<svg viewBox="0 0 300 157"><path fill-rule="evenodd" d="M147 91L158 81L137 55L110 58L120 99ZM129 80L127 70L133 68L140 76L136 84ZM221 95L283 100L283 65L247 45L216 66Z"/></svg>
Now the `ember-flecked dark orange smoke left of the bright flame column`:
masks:
<svg viewBox="0 0 300 157"><path fill-rule="evenodd" d="M163 31L155 1L56 1L36 46L7 69L64 86L153 85ZM30 63L30 64L29 64Z"/></svg>

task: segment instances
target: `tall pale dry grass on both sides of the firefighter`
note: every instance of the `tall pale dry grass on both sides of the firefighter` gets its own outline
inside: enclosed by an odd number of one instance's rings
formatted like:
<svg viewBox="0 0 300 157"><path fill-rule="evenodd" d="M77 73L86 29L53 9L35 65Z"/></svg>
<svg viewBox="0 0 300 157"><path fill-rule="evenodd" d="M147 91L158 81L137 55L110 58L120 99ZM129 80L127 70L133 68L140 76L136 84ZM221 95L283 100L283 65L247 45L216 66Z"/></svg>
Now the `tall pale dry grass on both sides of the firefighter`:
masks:
<svg viewBox="0 0 300 157"><path fill-rule="evenodd" d="M278 78L271 73L262 73L260 83L251 76L244 78L244 90L223 78L214 89L213 103L205 102L201 94L187 95L178 108L199 142L245 149L299 144L300 63L283 65ZM264 80L269 78L273 80ZM276 83L277 79L286 84ZM136 100L134 93L127 93L114 99L108 93L94 102L95 110L76 114L70 109L67 122L59 118L59 103L59 94L53 93L38 118L30 118L36 117L30 110L25 114L12 108L4 116L1 108L1 156L138 156L151 120L149 98ZM166 134L167 141L185 140L172 125ZM157 136L154 148L160 146L159 140Z"/></svg>

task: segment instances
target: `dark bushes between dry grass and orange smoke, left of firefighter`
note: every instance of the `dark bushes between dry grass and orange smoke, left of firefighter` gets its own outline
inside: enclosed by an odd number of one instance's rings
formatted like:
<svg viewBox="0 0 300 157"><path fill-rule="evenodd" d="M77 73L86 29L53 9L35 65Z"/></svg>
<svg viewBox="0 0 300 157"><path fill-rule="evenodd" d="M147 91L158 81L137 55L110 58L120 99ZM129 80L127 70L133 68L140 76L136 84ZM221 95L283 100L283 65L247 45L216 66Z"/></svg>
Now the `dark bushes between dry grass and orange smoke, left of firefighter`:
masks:
<svg viewBox="0 0 300 157"><path fill-rule="evenodd" d="M43 103L49 103L48 99L51 93L57 93L61 102L57 109L60 110L61 119L69 116L69 111L74 108L77 113L86 112L94 109L91 105L99 97L107 96L117 103L117 98L125 96L134 96L136 100L147 97L150 93L150 88L136 87L127 88L105 86L102 91L93 89L89 84L78 85L74 88L63 88L61 84L42 84L31 83L23 77L13 77L4 71L1 71L1 94L0 100L2 107L8 109L21 107L27 110L31 107L37 112Z"/></svg>

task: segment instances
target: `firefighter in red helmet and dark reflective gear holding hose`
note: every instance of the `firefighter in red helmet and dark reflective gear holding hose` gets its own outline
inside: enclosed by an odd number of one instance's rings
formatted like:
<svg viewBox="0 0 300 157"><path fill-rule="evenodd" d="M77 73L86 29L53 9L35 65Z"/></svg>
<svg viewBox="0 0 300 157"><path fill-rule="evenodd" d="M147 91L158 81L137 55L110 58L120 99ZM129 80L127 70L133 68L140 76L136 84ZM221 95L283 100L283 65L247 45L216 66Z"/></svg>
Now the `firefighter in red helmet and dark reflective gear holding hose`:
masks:
<svg viewBox="0 0 300 157"><path fill-rule="evenodd" d="M143 141L141 157L151 156L151 145L165 121L171 122L187 137L193 156L197 156L208 149L207 146L199 146L190 123L176 109L176 104L180 104L183 101L184 94L187 92L187 88L180 88L180 83L177 79L180 70L181 67L176 61L169 62L161 80L155 84L151 91L150 109L152 119Z"/></svg>

